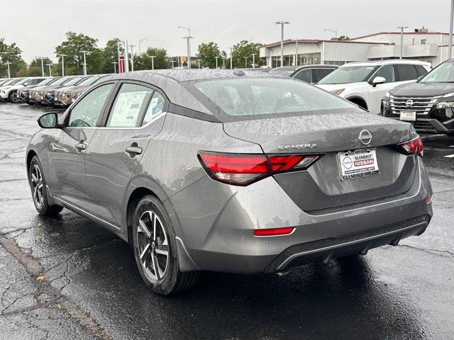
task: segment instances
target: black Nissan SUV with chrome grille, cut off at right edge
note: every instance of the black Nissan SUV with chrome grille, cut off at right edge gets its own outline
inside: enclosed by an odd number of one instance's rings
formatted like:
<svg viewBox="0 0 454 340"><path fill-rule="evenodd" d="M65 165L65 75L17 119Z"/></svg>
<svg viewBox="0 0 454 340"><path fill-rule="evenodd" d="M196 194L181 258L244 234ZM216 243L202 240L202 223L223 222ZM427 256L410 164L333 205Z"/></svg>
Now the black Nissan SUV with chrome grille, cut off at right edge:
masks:
<svg viewBox="0 0 454 340"><path fill-rule="evenodd" d="M405 120L421 133L454 135L454 59L439 64L416 83L389 90L380 113Z"/></svg>

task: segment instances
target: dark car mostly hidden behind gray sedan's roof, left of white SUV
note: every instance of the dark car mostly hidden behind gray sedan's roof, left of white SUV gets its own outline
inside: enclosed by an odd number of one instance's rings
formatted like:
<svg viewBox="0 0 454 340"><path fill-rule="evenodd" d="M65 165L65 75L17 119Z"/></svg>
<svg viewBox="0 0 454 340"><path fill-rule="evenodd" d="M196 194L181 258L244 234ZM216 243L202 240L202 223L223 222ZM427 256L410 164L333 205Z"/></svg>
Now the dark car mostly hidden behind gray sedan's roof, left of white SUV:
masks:
<svg viewBox="0 0 454 340"><path fill-rule="evenodd" d="M316 84L319 80L337 69L337 65L302 65L302 66L282 66L270 71L270 74L281 77L291 77L306 81L309 84Z"/></svg>

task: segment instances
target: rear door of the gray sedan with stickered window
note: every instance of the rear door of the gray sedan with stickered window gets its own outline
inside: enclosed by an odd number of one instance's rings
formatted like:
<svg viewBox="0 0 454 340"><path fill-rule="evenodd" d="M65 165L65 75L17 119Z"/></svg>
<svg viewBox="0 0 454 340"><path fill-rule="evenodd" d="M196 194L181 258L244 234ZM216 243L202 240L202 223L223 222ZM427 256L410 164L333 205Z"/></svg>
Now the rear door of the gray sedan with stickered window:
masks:
<svg viewBox="0 0 454 340"><path fill-rule="evenodd" d="M128 183L150 139L162 128L164 94L153 86L123 81L104 122L87 148L85 169L94 215L121 227Z"/></svg>

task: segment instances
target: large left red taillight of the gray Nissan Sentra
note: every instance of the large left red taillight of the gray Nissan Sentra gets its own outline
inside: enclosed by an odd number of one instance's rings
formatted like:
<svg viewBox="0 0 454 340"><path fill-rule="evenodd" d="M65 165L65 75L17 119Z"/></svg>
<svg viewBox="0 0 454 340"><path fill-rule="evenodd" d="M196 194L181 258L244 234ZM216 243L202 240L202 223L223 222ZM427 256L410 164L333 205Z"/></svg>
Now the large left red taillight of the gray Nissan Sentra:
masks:
<svg viewBox="0 0 454 340"><path fill-rule="evenodd" d="M247 186L272 174L307 169L320 155L265 155L198 152L199 161L212 179Z"/></svg>

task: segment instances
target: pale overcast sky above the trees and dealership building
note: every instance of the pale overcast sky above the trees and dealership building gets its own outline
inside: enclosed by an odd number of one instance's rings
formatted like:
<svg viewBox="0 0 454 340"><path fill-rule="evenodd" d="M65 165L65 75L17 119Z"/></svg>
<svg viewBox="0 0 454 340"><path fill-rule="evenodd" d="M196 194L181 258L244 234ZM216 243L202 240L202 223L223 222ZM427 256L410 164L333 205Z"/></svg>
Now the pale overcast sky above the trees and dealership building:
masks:
<svg viewBox="0 0 454 340"><path fill-rule="evenodd" d="M21 0L18 6L4 6L0 18L0 37L16 42L27 62L34 56L55 59L55 46L65 33L84 33L99 40L99 47L110 38L128 40L145 47L165 47L170 56L186 55L184 31L192 29L192 55L201 42L214 41L221 50L239 40L268 43L280 40L284 19L284 38L329 39L338 35L350 38L396 30L404 24L411 30L425 26L448 32L449 0ZM137 47L135 47L137 50Z"/></svg>

